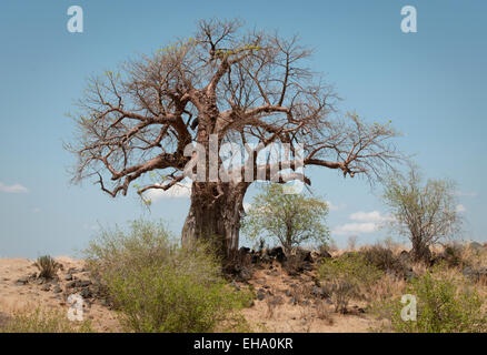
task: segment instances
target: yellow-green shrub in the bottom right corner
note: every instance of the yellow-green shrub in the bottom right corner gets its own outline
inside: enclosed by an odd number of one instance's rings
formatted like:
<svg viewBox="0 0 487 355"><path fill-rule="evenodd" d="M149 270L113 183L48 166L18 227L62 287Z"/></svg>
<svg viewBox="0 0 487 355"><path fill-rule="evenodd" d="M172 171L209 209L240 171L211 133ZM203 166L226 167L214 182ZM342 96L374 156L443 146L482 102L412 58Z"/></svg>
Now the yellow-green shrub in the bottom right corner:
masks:
<svg viewBox="0 0 487 355"><path fill-rule="evenodd" d="M407 333L486 332L485 300L461 276L434 267L411 281L408 294L416 296L417 320L402 321L399 298L386 303L392 329Z"/></svg>

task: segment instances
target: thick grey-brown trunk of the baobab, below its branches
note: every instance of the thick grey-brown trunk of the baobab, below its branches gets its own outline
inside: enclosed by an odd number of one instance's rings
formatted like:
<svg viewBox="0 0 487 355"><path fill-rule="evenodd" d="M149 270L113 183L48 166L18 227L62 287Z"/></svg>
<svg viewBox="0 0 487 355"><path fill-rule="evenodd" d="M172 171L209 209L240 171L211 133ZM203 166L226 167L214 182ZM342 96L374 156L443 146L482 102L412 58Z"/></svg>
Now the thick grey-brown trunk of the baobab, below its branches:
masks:
<svg viewBox="0 0 487 355"><path fill-rule="evenodd" d="M182 244L203 239L223 260L232 260L238 250L246 189L244 184L233 183L193 183Z"/></svg>

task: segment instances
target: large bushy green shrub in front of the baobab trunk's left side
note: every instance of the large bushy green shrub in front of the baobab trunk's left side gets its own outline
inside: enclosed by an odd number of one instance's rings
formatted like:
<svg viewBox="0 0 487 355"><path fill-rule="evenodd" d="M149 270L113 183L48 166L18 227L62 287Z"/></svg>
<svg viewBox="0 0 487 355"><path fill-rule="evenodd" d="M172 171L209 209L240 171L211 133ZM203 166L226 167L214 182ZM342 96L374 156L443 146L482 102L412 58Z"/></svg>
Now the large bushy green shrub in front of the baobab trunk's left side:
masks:
<svg viewBox="0 0 487 355"><path fill-rule="evenodd" d="M251 300L221 277L205 245L179 247L162 224L103 231L87 250L88 267L133 332L211 332L242 327L238 311Z"/></svg>

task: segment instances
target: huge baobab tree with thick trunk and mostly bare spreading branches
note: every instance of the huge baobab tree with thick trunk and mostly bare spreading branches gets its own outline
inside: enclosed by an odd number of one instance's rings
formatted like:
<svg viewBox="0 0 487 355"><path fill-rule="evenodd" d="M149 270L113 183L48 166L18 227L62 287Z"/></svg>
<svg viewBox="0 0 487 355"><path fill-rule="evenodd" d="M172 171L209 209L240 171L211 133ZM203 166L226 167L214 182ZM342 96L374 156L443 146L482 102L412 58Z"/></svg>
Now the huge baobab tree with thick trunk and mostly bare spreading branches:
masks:
<svg viewBox="0 0 487 355"><path fill-rule="evenodd" d="M191 164L203 161L202 181L191 183L182 241L216 237L231 257L252 183L232 179L236 171L245 166L246 178L261 172L260 179L310 184L299 165L372 179L399 158L388 123L337 114L332 89L306 67L310 54L297 37L213 19L200 21L192 38L89 79L73 114L79 135L67 144L78 158L73 181L95 179L113 197L131 186L143 199L149 190L181 183ZM188 151L196 143L198 152ZM210 176L210 162L201 160L212 156L220 166L211 145L223 143L247 156L242 168L222 174L231 179ZM286 145L287 155L260 162L258 153L272 143Z"/></svg>

